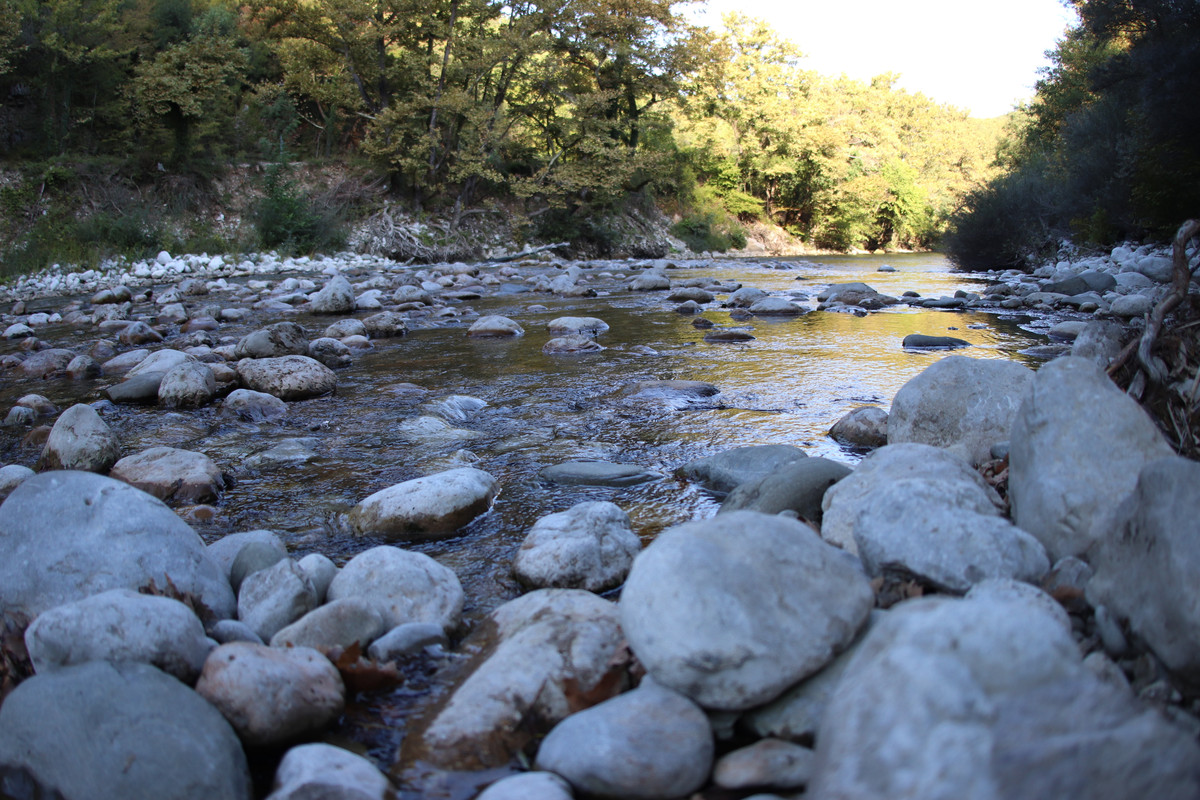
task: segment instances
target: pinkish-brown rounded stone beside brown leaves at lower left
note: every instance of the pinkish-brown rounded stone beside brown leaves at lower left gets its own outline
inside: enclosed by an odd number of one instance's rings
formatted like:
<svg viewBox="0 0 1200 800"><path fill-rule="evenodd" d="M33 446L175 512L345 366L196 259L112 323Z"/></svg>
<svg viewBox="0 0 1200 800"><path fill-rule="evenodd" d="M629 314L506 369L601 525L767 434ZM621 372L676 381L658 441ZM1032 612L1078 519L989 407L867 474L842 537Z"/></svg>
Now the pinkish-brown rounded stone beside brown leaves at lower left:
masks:
<svg viewBox="0 0 1200 800"><path fill-rule="evenodd" d="M209 654L196 692L215 705L247 745L311 734L346 705L337 668L311 648L222 644Z"/></svg>

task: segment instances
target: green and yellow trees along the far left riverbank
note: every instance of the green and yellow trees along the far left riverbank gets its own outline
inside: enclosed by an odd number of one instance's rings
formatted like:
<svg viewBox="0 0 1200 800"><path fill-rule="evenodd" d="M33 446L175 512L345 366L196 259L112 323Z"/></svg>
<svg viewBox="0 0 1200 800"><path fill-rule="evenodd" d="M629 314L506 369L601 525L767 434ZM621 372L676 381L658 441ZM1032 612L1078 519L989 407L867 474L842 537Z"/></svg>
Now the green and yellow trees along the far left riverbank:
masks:
<svg viewBox="0 0 1200 800"><path fill-rule="evenodd" d="M766 221L818 247L920 247L991 176L996 121L889 76L817 76L762 23L716 35L679 5L0 0L0 233L30 260L49 227L152 247L156 203L300 158L367 164L454 224L500 203L545 237L604 239L604 215L653 199L696 246ZM257 243L337 241L281 169L260 172Z"/></svg>

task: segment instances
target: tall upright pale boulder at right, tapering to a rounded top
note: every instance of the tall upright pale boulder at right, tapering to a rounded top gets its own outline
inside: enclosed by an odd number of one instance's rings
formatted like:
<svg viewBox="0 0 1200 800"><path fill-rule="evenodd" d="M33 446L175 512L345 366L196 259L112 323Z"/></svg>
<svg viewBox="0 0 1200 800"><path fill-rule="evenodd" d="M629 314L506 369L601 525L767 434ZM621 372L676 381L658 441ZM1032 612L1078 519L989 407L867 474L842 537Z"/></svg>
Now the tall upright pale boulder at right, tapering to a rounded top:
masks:
<svg viewBox="0 0 1200 800"><path fill-rule="evenodd" d="M1013 422L1013 521L1051 560L1081 555L1093 522L1133 491L1141 468L1171 455L1146 411L1099 366L1056 359L1038 371Z"/></svg>

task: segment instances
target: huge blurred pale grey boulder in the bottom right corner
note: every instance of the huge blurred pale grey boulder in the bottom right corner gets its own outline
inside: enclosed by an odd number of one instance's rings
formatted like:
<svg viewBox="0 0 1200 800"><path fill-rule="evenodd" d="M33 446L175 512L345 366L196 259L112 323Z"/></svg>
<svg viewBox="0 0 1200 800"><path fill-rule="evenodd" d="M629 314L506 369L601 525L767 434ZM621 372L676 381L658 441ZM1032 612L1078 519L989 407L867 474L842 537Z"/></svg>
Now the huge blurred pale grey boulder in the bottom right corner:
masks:
<svg viewBox="0 0 1200 800"><path fill-rule="evenodd" d="M1048 595L989 582L871 628L817 733L808 794L1194 798L1200 746L1084 667Z"/></svg>

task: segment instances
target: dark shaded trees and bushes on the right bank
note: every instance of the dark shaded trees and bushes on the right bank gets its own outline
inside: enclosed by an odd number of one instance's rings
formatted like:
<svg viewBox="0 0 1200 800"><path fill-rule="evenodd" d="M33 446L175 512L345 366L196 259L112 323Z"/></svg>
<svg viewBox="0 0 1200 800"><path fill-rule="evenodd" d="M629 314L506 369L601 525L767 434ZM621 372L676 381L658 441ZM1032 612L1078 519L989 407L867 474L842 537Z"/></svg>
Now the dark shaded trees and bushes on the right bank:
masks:
<svg viewBox="0 0 1200 800"><path fill-rule="evenodd" d="M1003 155L948 237L971 267L1025 265L1063 237L1169 239L1200 210L1200 2L1073 0Z"/></svg>

